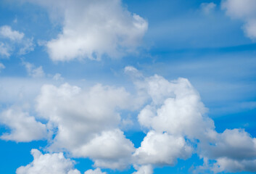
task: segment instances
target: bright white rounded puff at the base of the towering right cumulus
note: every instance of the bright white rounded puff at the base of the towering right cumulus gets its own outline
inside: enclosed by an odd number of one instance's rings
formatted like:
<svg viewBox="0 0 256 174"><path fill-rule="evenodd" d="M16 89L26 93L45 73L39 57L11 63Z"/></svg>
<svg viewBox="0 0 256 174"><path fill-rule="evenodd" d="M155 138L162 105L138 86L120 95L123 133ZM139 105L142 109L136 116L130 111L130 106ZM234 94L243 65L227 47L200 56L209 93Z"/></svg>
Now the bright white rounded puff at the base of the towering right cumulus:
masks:
<svg viewBox="0 0 256 174"><path fill-rule="evenodd" d="M175 165L177 159L187 159L192 148L182 136L171 136L168 133L156 133L151 130L133 154L140 165Z"/></svg>

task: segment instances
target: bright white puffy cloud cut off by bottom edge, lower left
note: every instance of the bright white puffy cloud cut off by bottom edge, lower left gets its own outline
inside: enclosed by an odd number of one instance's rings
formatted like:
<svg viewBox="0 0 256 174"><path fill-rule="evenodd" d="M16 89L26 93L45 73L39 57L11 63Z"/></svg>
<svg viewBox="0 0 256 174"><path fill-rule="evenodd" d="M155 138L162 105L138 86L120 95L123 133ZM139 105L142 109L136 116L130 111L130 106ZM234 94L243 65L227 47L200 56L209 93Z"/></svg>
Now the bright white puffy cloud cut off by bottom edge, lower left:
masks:
<svg viewBox="0 0 256 174"><path fill-rule="evenodd" d="M66 159L62 153L42 154L37 149L32 149L33 162L17 168L17 174L80 174L74 169L74 162Z"/></svg>

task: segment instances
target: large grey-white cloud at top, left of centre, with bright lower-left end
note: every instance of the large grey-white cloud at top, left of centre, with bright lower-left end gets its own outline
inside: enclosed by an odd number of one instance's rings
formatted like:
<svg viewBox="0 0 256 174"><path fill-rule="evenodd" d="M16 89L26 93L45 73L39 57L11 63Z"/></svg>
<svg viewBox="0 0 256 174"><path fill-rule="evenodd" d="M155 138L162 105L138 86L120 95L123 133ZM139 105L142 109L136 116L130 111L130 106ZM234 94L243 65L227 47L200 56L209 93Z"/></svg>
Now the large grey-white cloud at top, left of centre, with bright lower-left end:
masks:
<svg viewBox="0 0 256 174"><path fill-rule="evenodd" d="M64 18L62 33L46 43L54 61L122 57L135 51L147 30L147 22L128 12L120 0L28 1L51 12L57 9L54 16Z"/></svg>

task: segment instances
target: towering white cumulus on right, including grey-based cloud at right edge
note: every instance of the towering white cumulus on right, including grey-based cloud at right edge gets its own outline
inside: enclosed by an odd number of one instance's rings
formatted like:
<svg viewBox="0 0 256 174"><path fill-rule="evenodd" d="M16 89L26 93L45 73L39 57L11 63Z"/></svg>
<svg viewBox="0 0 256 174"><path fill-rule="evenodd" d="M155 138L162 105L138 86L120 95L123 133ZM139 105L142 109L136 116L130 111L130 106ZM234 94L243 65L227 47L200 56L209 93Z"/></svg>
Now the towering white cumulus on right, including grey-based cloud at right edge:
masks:
<svg viewBox="0 0 256 174"><path fill-rule="evenodd" d="M146 91L151 101L138 115L149 132L133 154L136 164L174 165L196 152L205 161L204 170L255 171L255 138L239 129L218 133L189 80L168 81L159 75L138 78L136 69L125 70L137 78L137 88Z"/></svg>

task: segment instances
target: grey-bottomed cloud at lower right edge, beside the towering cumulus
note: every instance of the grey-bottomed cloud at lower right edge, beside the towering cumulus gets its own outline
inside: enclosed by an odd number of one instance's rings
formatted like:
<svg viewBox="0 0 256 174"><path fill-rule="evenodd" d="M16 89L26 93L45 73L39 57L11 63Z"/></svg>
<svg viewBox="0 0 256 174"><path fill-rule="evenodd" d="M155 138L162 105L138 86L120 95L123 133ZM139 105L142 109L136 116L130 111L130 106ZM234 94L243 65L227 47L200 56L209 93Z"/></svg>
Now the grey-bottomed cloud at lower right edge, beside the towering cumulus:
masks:
<svg viewBox="0 0 256 174"><path fill-rule="evenodd" d="M200 154L215 159L212 170L216 173L229 171L256 171L256 138L244 130L233 129L218 133L211 144L199 144Z"/></svg>

